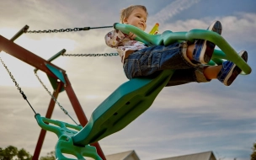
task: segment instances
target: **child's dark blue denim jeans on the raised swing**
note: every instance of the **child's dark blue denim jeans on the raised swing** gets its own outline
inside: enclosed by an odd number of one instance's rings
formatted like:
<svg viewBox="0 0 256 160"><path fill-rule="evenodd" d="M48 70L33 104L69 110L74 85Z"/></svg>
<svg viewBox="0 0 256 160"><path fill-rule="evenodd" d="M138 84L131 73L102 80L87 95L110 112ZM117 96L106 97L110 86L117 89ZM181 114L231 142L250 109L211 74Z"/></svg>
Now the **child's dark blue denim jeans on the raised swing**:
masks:
<svg viewBox="0 0 256 160"><path fill-rule="evenodd" d="M204 66L189 61L186 50L186 42L177 42L168 46L156 45L135 51L125 59L125 76L128 79L147 77L155 72L173 69L175 72L167 86L209 82L203 74Z"/></svg>

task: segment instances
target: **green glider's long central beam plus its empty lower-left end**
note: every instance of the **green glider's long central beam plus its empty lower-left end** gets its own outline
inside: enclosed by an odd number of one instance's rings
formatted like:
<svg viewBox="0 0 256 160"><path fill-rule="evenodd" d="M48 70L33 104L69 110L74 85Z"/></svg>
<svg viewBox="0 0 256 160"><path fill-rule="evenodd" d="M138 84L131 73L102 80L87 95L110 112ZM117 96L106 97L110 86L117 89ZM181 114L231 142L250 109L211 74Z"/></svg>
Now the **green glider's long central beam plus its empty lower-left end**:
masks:
<svg viewBox="0 0 256 160"><path fill-rule="evenodd" d="M58 160L73 160L64 157L62 153L71 154L77 159L93 157L95 160L100 160L96 148L88 144L120 131L141 115L151 106L172 74L172 70L166 70L156 76L134 78L122 84L102 104L99 104L84 127L50 120L39 114L35 115L35 119L41 128L55 132L58 136L59 140L56 144Z"/></svg>

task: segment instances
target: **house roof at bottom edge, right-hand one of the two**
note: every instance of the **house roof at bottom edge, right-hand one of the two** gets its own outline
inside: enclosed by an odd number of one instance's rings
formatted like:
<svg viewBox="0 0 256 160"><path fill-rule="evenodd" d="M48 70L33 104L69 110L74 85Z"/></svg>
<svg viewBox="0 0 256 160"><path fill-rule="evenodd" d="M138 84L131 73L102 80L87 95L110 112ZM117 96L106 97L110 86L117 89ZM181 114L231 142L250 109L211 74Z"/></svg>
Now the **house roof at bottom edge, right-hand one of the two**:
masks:
<svg viewBox="0 0 256 160"><path fill-rule="evenodd" d="M166 157L162 159L157 160L216 160L216 157L214 156L213 152L199 152L194 154L188 154L184 156L178 156L178 157Z"/></svg>

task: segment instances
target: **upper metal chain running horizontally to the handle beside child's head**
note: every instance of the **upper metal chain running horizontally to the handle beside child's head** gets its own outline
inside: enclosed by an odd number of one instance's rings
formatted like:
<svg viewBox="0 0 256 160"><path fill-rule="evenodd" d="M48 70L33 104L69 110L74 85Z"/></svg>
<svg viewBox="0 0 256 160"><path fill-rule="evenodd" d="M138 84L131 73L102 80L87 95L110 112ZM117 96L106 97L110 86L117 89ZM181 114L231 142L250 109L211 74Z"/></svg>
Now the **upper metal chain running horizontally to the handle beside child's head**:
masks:
<svg viewBox="0 0 256 160"><path fill-rule="evenodd" d="M89 29L104 29L104 28L113 28L113 26L83 27L83 28L74 28L74 29L25 30L24 33L28 33L28 34L44 34L44 33L59 33L59 32L83 31L83 30L89 30Z"/></svg>

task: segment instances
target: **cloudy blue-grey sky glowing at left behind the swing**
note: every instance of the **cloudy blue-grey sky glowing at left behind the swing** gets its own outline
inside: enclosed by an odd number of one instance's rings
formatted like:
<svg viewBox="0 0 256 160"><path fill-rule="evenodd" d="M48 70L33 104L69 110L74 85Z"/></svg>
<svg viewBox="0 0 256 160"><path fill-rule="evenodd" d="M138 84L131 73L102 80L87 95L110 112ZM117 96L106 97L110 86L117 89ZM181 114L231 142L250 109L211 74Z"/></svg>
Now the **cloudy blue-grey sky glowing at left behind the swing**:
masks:
<svg viewBox="0 0 256 160"><path fill-rule="evenodd" d="M8 0L0 3L0 35L10 39L26 24L29 30L110 26L119 22L122 8L133 4L147 7L146 32L155 23L160 24L160 32L176 32L206 29L220 20L223 38L235 51L248 51L248 65L253 72L238 76L230 87L212 80L163 88L146 112L123 130L99 141L104 154L135 150L142 160L150 160L212 151L219 159L248 160L256 140L256 1ZM115 53L104 42L110 30L24 34L15 43L45 60L62 49L67 54ZM29 103L44 116L51 96L35 77L35 68L5 52L0 57ZM128 81L119 56L60 56L52 63L67 72L88 119L93 109ZM40 127L3 65L0 75L0 147L24 147L33 154ZM52 92L45 73L39 71L38 75ZM60 93L58 101L78 121L67 93ZM51 118L73 124L58 105ZM55 134L48 132L40 156L53 151L56 141Z"/></svg>

